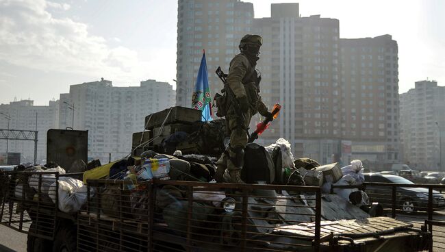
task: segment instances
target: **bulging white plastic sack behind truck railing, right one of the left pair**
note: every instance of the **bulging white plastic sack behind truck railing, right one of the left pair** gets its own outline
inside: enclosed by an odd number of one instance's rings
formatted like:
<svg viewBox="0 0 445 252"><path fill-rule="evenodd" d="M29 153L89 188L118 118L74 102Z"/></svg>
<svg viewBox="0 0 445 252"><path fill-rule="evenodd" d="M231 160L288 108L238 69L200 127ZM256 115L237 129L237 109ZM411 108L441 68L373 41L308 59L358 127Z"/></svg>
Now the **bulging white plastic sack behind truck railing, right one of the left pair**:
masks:
<svg viewBox="0 0 445 252"><path fill-rule="evenodd" d="M59 210L66 213L73 213L80 210L87 200L87 186L79 179L72 177L59 178ZM49 189L49 197L55 203L55 183ZM90 197L94 192L90 191Z"/></svg>

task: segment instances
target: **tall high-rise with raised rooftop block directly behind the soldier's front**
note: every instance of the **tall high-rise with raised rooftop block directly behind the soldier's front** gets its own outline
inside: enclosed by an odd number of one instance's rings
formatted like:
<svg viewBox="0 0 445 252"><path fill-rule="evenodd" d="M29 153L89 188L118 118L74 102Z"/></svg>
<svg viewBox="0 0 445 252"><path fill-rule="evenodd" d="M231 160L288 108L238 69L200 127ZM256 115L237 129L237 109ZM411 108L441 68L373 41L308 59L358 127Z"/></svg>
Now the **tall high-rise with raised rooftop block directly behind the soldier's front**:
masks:
<svg viewBox="0 0 445 252"><path fill-rule="evenodd" d="M298 3L271 5L271 17L255 19L264 38L262 97L283 105L264 144L283 137L298 157L331 161L340 138L339 22L320 15L301 17Z"/></svg>

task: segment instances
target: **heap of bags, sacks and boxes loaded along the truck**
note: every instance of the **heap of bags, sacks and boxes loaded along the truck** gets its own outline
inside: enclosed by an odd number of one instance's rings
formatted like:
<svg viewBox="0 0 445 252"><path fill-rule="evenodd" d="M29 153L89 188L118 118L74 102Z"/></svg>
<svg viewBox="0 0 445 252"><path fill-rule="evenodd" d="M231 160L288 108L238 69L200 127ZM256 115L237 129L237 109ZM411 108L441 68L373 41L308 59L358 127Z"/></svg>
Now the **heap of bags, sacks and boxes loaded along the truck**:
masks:
<svg viewBox="0 0 445 252"><path fill-rule="evenodd" d="M38 183L42 183L40 186L44 197L55 203L57 183L59 209L62 212L76 212L86 202L85 185L88 179L127 181L127 190L136 194L140 184L152 179L216 182L216 161L225 151L228 137L225 127L225 120L201 122L201 112L189 108L173 107L150 114L145 118L144 131L133 134L130 157L95 168L88 166L88 171L83 174L83 181L59 176L56 179L55 173L60 176L65 173L57 165L51 168L34 166L27 171L53 173L45 173L40 177L32 175L19 180L16 194L17 197L22 195L25 188L25 197L32 199L35 197L33 190L38 190ZM338 163L320 165L307 157L294 159L291 144L283 138L267 147L255 143L247 144L241 176L249 184L320 186L325 193L334 192L346 201L366 204L364 192L363 201L355 202L349 197L357 189L331 190L331 186L357 185L363 182L359 160L340 168ZM177 189L175 186L170 187L170 190ZM102 193L103 190L105 189L101 190ZM94 197L94 192L89 193L90 197ZM112 202L113 198L109 201Z"/></svg>

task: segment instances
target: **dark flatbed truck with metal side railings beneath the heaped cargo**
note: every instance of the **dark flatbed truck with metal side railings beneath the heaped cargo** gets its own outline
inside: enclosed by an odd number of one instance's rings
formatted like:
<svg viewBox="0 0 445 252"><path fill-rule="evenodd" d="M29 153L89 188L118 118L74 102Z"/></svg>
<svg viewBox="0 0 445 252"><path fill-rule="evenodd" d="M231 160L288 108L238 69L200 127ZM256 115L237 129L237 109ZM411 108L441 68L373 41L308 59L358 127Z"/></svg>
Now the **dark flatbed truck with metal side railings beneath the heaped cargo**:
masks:
<svg viewBox="0 0 445 252"><path fill-rule="evenodd" d="M167 117L162 126L170 120ZM170 123L178 121L173 118ZM92 168L81 177L4 172L1 224L27 234L27 251L423 251L431 247L427 229L381 216L372 206L358 207L337 194L323 194L319 186L214 183L212 166L193 155L188 167L194 179L186 174L189 179L112 177L116 168L131 170L140 162L135 154L141 145L133 144L131 157ZM190 150L190 144L182 146ZM62 194L64 177L85 183L81 193L68 195L85 199L75 212L62 211L67 200Z"/></svg>

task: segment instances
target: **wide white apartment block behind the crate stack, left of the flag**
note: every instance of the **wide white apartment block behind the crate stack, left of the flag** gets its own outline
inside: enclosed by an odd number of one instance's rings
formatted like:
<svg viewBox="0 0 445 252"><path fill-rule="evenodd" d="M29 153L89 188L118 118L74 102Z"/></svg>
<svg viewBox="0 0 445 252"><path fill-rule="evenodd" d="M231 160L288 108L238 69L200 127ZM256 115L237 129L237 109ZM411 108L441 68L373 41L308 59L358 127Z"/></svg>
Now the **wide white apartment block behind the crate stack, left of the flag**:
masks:
<svg viewBox="0 0 445 252"><path fill-rule="evenodd" d="M108 162L110 153L116 160L131 152L131 136L144 129L145 116L174 104L173 86L151 79L130 87L104 79L71 85L60 95L60 127L88 130L88 156Z"/></svg>

